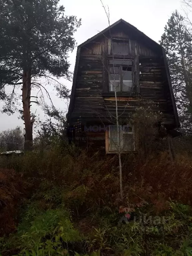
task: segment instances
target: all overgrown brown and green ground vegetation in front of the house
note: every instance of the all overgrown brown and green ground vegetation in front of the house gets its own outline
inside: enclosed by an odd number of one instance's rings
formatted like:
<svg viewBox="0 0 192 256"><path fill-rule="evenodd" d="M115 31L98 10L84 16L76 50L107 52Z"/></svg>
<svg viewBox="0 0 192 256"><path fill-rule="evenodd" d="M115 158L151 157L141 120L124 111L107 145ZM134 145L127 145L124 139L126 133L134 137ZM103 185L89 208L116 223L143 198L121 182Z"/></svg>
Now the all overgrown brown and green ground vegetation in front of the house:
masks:
<svg viewBox="0 0 192 256"><path fill-rule="evenodd" d="M1 157L1 254L192 255L189 154L174 164L166 151L122 160L123 202L117 156L52 140L47 150Z"/></svg>

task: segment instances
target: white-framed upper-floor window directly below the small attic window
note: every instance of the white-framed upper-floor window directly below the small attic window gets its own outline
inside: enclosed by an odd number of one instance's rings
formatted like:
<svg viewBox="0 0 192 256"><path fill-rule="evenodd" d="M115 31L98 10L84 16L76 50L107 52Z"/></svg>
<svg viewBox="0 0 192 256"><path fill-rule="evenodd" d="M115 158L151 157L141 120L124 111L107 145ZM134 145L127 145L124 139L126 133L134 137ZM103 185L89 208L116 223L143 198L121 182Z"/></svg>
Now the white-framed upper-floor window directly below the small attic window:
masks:
<svg viewBox="0 0 192 256"><path fill-rule="evenodd" d="M132 88L132 60L109 60L109 91L131 92Z"/></svg>

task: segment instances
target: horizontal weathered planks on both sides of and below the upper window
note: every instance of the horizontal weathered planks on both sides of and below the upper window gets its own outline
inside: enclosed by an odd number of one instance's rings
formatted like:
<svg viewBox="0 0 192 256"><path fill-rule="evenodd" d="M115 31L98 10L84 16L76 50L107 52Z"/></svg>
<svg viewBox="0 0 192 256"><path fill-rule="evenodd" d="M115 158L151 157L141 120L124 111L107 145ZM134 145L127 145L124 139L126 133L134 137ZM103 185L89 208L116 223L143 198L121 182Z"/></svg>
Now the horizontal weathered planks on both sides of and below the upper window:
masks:
<svg viewBox="0 0 192 256"><path fill-rule="evenodd" d="M94 45L97 48L97 43L94 43ZM142 47L139 48L142 49ZM115 116L115 98L112 96L114 95L113 92L103 94L103 63L105 59L103 55L98 54L98 51L96 51L97 53L95 55L89 54L89 52L85 55L84 49L82 52L83 54L80 53L75 88L75 104L71 117L75 121L79 116L86 117L87 115L87 117L89 117L89 115L92 114L92 117L96 119L101 118L102 122L106 123L106 118L109 119L111 116ZM145 51L143 51L143 54L144 53ZM139 81L137 80L140 89L139 97L143 100L154 101L154 103L158 105L154 110L160 110L166 114L168 102L164 89L167 83L163 76L165 67L163 66L162 58L153 56L143 58L146 56L139 55L139 63L137 63L138 72L141 72ZM108 87L109 82L108 79L106 80L106 87ZM124 108L126 108L126 111L133 111L135 107L140 105L136 96L138 97L138 95L126 96L126 94L118 96L118 109L120 114L124 111ZM169 109L169 112L170 110L171 109ZM124 113L125 116L127 115L126 111Z"/></svg>

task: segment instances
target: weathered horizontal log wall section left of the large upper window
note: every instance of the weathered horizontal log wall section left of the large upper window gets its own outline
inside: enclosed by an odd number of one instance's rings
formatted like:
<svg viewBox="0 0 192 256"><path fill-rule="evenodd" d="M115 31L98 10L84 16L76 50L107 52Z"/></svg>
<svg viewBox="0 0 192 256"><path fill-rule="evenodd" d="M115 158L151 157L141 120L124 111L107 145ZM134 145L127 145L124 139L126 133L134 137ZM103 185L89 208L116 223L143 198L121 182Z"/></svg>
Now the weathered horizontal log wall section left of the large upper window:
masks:
<svg viewBox="0 0 192 256"><path fill-rule="evenodd" d="M103 64L98 56L81 55L76 79L74 109L71 118L91 117L105 112L103 104Z"/></svg>

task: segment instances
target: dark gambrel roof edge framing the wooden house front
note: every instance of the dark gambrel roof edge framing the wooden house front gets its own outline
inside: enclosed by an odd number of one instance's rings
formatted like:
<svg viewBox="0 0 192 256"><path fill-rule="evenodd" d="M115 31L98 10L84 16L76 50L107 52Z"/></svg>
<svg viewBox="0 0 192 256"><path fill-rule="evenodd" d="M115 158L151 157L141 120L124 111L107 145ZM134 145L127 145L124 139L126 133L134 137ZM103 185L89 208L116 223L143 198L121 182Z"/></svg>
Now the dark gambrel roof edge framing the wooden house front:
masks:
<svg viewBox="0 0 192 256"><path fill-rule="evenodd" d="M169 84L169 89L170 89L170 94L171 94L171 101L172 101L172 105L173 105L173 111L174 111L174 115L175 115L176 126L179 127L180 126L180 122L179 122L177 107L176 107L176 103L175 103L175 97L174 97L172 83L171 83L169 66L168 66L167 57L166 57L164 48L160 44L158 44L157 42L152 40L150 37L145 35L143 32L138 30L136 27L134 27L133 25L131 25L130 23L126 22L123 19L120 19L120 20L116 21L115 23L113 23L109 27L105 28L101 32L97 33L93 37L89 38L88 40L86 40L85 42L83 42L82 44L77 46L77 55L76 55L76 62L75 62L75 68L74 68L74 74L73 74L73 84L72 84L72 89L71 89L71 97L70 97L70 103L69 103L69 110L68 110L68 114L67 114L67 120L69 120L69 116L70 116L70 114L72 113L72 110L73 110L73 101L74 101L74 95L75 95L75 85L76 85L76 78L77 78L77 71L78 71L78 64L79 64L79 57L80 57L81 47L83 47L84 45L92 42L96 38L98 38L100 36L103 36L104 33L106 33L107 31L109 31L110 29L114 28L115 26L117 26L120 23L124 24L128 28L132 29L137 35L143 37L143 39L146 39L148 42L151 42L155 47L159 48L159 50L162 52L162 55L163 55L163 58L164 58L164 63L165 63L166 74L167 74L167 78L168 78L168 84Z"/></svg>

